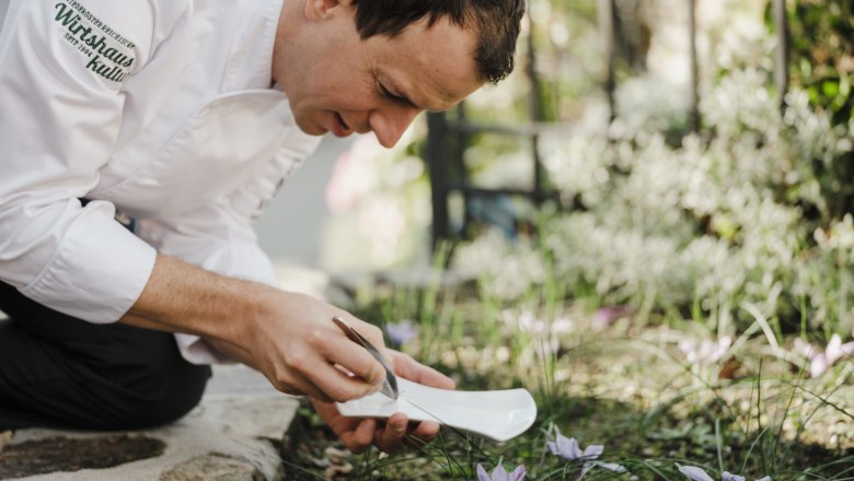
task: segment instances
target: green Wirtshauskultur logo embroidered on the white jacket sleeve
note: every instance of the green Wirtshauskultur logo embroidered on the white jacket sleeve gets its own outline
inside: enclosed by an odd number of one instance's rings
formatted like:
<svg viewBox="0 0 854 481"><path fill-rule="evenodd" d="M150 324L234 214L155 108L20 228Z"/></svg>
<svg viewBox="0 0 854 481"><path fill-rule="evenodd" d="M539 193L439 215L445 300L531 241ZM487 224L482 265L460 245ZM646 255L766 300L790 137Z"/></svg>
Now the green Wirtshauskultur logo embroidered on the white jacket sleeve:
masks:
<svg viewBox="0 0 854 481"><path fill-rule="evenodd" d="M93 15L77 0L55 5L66 42L89 59L86 69L111 82L122 82L134 64L134 44Z"/></svg>

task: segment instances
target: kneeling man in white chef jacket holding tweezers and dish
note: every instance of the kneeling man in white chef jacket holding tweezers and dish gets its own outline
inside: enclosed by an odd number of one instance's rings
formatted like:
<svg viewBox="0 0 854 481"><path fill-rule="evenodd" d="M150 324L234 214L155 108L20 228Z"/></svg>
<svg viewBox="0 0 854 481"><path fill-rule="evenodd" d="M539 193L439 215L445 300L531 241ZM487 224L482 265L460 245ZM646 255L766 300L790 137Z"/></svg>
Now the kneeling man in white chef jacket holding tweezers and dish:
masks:
<svg viewBox="0 0 854 481"><path fill-rule="evenodd" d="M394 145L512 69L520 0L12 0L0 31L0 431L180 418L210 363L339 417L379 389L373 326L275 289L251 221L326 132ZM124 221L124 222L123 222ZM298 234L295 226L295 235ZM342 239L346 243L346 239ZM386 350L399 375L451 379ZM408 432L429 439L435 423Z"/></svg>

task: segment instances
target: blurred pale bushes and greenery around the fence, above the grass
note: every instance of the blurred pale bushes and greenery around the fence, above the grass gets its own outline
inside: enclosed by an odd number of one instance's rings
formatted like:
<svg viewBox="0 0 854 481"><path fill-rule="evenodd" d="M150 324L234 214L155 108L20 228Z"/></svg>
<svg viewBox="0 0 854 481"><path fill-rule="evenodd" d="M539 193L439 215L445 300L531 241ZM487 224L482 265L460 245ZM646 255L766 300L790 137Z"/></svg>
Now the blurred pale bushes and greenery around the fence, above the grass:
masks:
<svg viewBox="0 0 854 481"><path fill-rule="evenodd" d="M703 320L718 336L762 317L781 339L851 337L851 2L787 2L782 102L771 2L696 0L697 131L689 3L614 1L611 95L602 4L531 0L513 74L448 114L493 127L450 142L461 152L457 180L533 189L536 157L540 187L555 192L452 191L451 266L508 302L556 279L567 300ZM395 151L362 148L359 169L383 178L395 159L426 159L424 125L415 130ZM429 253L428 168L407 172L417 175L376 183L350 206L397 199L400 235L384 239L380 269L429 257L414 254ZM378 235L370 225L362 235Z"/></svg>

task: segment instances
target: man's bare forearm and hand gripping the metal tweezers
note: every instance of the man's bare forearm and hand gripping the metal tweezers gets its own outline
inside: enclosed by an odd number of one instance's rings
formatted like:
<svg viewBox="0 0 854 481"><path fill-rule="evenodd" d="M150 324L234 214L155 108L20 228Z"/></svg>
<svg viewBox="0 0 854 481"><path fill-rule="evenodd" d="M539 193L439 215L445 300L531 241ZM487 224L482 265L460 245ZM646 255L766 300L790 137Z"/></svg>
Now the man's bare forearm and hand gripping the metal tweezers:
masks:
<svg viewBox="0 0 854 481"><path fill-rule="evenodd" d="M347 339L333 316L383 345L379 328L323 301L159 255L146 289L122 321L201 336L261 371L282 392L332 402L379 390L385 369Z"/></svg>

